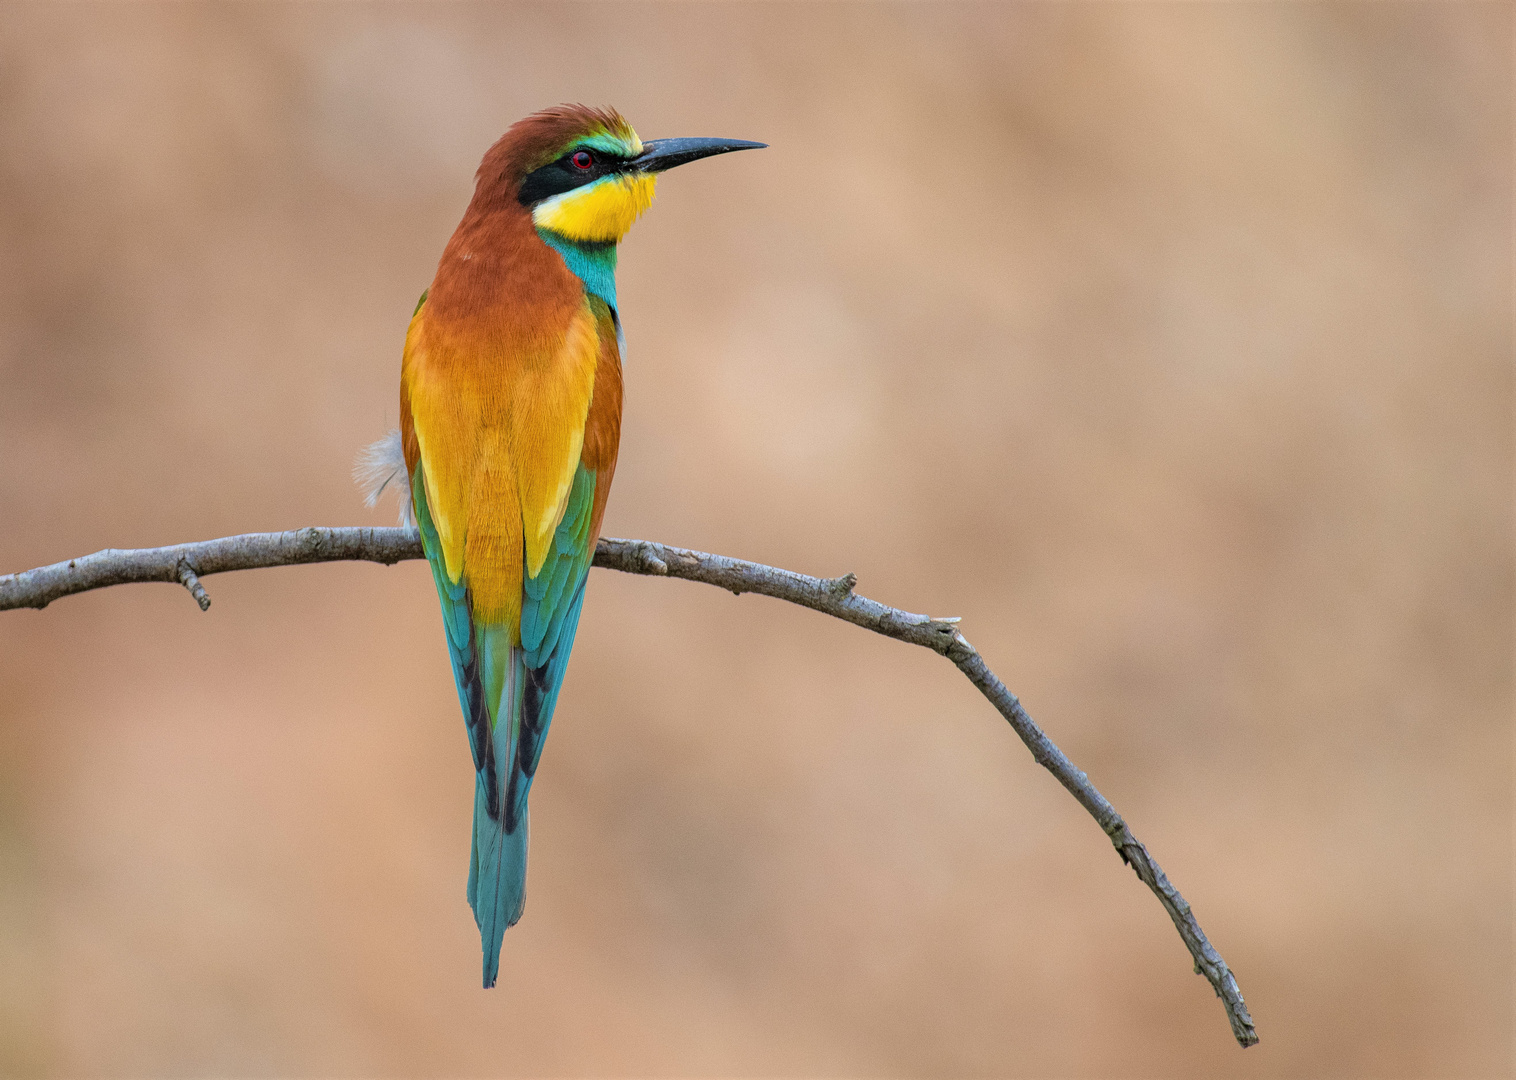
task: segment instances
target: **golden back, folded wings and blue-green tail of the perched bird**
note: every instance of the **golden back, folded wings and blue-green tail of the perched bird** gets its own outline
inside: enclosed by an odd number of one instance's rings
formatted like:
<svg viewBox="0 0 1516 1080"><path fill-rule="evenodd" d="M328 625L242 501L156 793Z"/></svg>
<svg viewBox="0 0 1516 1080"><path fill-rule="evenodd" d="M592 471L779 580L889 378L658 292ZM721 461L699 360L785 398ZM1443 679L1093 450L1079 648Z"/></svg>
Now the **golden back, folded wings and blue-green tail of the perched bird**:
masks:
<svg viewBox="0 0 1516 1080"><path fill-rule="evenodd" d="M614 312L588 297L534 355L428 323L402 366L402 443L476 769L468 903L494 983L525 904L541 760L620 437Z"/></svg>

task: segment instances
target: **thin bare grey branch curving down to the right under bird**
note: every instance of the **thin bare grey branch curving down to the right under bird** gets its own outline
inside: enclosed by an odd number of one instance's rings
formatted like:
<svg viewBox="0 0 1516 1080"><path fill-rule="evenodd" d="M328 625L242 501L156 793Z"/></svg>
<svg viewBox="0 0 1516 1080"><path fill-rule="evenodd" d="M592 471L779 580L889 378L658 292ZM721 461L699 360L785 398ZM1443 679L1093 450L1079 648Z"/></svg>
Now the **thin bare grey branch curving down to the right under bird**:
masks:
<svg viewBox="0 0 1516 1080"><path fill-rule="evenodd" d="M209 573L344 560L394 564L406 558L421 558L421 540L417 532L399 528L306 528L293 532L249 532L171 548L136 551L108 548L67 563L0 576L0 611L23 607L44 608L59 596L133 581L179 582L205 610L211 607L211 598L200 578ZM1195 957L1195 971L1205 975L1220 997L1237 1042L1251 1047L1258 1041L1252 1016L1248 1015L1242 991L1237 989L1237 980L1207 940L1189 903L1169 883L1167 875L1148 854L1148 848L1132 836L1126 822L1116 813L1116 807L1064 757L1052 739L1043 734L1016 695L1005 689L979 652L958 633L957 619L931 619L870 601L854 592L858 579L850 573L840 578L811 578L761 563L746 563L740 558L708 555L647 540L602 537L594 552L594 566L625 573L702 581L731 590L734 595L773 596L948 657L1010 722L1037 764L1057 777L1058 783L1069 789L1079 805L1099 822L1122 862L1131 866L1143 884L1158 896L1158 903L1173 919L1179 937Z"/></svg>

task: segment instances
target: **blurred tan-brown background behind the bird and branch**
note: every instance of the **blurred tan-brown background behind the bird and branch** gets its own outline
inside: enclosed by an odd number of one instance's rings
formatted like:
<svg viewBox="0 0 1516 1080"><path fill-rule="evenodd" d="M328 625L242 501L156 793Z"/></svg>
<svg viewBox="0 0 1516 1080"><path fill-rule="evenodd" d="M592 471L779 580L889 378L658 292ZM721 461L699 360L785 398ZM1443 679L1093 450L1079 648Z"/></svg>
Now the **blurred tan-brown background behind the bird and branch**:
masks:
<svg viewBox="0 0 1516 1080"><path fill-rule="evenodd" d="M11 5L0 570L349 479L484 149L772 143L622 250L606 534L482 992L426 567L0 616L0 1074L1489 1077L1511 1062L1508 5Z"/></svg>

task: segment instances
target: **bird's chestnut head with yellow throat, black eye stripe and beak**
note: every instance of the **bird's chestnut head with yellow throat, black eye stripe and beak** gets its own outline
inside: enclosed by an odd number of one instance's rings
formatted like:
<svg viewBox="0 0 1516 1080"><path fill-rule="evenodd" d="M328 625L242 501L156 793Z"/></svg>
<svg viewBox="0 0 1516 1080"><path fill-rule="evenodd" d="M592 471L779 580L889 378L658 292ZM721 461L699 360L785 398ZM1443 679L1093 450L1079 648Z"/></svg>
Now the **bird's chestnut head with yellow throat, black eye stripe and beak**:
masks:
<svg viewBox="0 0 1516 1080"><path fill-rule="evenodd" d="M763 146L731 138L643 143L615 109L558 105L517 121L490 147L476 200L511 199L538 229L576 244L614 244L652 203L658 173Z"/></svg>

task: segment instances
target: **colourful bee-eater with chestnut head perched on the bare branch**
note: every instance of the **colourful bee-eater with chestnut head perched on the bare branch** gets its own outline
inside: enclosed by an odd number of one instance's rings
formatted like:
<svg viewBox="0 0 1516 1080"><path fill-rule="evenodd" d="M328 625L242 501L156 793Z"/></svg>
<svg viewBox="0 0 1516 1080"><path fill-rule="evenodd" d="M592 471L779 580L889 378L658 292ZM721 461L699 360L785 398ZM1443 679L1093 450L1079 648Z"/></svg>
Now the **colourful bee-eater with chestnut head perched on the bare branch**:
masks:
<svg viewBox="0 0 1516 1080"><path fill-rule="evenodd" d="M526 901L541 761L622 428L617 244L658 176L764 143L643 141L612 108L558 105L484 155L411 316L400 426L359 455L420 529L475 766L468 904L484 986Z"/></svg>

